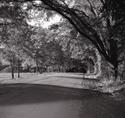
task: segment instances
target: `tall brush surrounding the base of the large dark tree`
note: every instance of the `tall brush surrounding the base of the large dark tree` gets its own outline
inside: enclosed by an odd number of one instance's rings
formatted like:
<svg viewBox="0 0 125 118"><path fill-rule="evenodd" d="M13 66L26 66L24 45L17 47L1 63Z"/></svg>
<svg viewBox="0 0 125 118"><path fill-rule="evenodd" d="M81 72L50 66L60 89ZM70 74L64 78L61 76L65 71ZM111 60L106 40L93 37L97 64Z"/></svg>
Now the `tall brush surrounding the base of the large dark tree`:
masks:
<svg viewBox="0 0 125 118"><path fill-rule="evenodd" d="M114 59L115 60L115 59ZM124 60L121 64L116 62L116 64L111 64L102 58L101 63L101 79L102 81L118 82L123 80L125 75L125 63Z"/></svg>

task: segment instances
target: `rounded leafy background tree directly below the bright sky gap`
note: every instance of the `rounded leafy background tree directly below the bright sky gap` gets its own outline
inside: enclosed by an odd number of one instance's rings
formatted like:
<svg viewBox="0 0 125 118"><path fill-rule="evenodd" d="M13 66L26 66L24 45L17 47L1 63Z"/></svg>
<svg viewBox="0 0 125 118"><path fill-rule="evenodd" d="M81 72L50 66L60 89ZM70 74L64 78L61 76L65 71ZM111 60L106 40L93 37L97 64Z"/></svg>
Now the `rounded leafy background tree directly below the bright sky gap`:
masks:
<svg viewBox="0 0 125 118"><path fill-rule="evenodd" d="M61 46L52 39L51 33L36 28L36 34L32 35L32 52L34 52L35 60L38 65L53 66L63 64L64 54Z"/></svg>

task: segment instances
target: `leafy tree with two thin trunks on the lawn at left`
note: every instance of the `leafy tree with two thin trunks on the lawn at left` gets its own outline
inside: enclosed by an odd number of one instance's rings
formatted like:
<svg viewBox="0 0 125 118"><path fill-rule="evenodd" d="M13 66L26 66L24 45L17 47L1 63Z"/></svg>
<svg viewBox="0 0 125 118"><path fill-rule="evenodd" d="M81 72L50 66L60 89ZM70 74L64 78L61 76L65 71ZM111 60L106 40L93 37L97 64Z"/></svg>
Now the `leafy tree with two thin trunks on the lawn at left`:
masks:
<svg viewBox="0 0 125 118"><path fill-rule="evenodd" d="M27 38L29 33L25 32L27 28L27 25L21 24L16 25L17 22L12 23L9 21L6 21L6 17L1 22L2 26L0 34L1 34L1 44L4 47L4 52L3 54L6 58L7 61L9 61L10 66L11 66L11 72L12 72L12 78L14 78L14 70L17 70L18 72L18 78L20 77L20 68L21 68L21 63L23 61L23 40L24 38ZM4 23L6 21L6 23ZM25 29L25 30L24 30ZM27 33L27 35L25 33ZM25 37L24 37L25 36ZM22 47L23 46L23 47ZM16 69L15 69L16 68Z"/></svg>

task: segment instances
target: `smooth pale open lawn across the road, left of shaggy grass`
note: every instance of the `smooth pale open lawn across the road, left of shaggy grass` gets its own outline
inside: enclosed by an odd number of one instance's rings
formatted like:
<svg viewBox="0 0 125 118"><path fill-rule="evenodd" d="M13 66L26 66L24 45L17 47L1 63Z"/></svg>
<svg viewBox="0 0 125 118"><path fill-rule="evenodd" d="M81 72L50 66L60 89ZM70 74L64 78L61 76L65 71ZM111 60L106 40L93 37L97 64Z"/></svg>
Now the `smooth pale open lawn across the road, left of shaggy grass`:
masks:
<svg viewBox="0 0 125 118"><path fill-rule="evenodd" d="M11 73L0 73L1 84L29 83L82 88L82 73L21 73L21 78L11 79Z"/></svg>

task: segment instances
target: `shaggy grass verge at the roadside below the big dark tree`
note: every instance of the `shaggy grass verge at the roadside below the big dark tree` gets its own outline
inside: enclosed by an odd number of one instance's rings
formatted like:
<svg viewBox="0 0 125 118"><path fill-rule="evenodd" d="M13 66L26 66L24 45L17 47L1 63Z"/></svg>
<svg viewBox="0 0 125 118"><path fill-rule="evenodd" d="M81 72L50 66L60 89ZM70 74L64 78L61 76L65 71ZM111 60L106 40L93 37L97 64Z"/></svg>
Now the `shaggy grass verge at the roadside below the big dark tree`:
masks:
<svg viewBox="0 0 125 118"><path fill-rule="evenodd" d="M85 89L97 90L103 93L114 94L125 89L125 81L83 79L82 86Z"/></svg>

